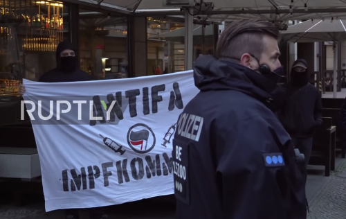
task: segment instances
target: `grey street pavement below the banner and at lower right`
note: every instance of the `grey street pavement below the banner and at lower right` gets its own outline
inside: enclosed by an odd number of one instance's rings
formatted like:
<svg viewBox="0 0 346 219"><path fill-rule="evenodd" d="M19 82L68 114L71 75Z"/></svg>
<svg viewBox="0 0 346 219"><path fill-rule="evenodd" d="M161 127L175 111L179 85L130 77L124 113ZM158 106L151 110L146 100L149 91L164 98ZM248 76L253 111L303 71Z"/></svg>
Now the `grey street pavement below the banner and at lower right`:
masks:
<svg viewBox="0 0 346 219"><path fill-rule="evenodd" d="M307 198L308 219L346 218L346 159L336 159L336 170L324 176L322 166L308 166ZM107 207L109 219L173 219L174 197L151 198ZM0 204L0 219L64 219L64 211L44 211L40 199L17 207L12 203ZM89 219L87 210L80 210L80 219Z"/></svg>

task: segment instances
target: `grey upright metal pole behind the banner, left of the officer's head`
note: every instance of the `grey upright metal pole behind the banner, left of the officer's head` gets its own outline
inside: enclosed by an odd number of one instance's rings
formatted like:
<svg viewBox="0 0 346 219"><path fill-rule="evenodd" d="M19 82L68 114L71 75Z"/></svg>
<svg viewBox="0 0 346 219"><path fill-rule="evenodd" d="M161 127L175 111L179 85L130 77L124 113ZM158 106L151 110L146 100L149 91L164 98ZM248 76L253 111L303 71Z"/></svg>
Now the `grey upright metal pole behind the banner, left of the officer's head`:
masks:
<svg viewBox="0 0 346 219"><path fill-rule="evenodd" d="M193 63L193 8L185 9L185 71L192 69Z"/></svg>

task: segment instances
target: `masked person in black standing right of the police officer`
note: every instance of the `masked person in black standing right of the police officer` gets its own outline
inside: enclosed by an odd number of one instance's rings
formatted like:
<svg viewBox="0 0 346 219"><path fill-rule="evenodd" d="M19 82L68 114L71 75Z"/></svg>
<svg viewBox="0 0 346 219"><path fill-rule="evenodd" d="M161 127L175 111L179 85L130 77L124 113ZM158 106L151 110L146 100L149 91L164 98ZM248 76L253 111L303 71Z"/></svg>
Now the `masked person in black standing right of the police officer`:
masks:
<svg viewBox="0 0 346 219"><path fill-rule="evenodd" d="M322 124L322 102L318 89L309 83L307 62L298 59L293 63L291 81L287 89L280 121L289 132L295 148L304 154L304 181L311 155L313 132Z"/></svg>

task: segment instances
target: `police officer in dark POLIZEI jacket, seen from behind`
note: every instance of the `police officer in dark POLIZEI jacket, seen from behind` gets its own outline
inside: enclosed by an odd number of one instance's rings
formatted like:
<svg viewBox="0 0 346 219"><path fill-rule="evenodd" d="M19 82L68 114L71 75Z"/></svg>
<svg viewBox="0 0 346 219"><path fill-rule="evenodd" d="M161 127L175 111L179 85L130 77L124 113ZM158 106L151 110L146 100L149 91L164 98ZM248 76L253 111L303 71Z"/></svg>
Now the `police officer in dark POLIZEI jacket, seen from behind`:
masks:
<svg viewBox="0 0 346 219"><path fill-rule="evenodd" d="M200 92L173 141L177 219L307 217L291 139L273 113L285 94L272 80L281 67L279 35L268 21L233 22L216 58L195 62Z"/></svg>

